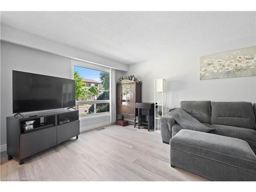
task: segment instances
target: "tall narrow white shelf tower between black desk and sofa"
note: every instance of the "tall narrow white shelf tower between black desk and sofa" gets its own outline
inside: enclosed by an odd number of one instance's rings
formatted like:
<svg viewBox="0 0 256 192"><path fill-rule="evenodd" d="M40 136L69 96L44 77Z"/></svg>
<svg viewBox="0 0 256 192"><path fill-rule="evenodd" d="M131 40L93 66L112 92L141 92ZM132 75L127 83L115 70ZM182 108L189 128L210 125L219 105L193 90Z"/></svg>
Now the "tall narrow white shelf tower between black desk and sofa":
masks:
<svg viewBox="0 0 256 192"><path fill-rule="evenodd" d="M160 118L166 114L166 80L155 79L155 132L161 131Z"/></svg>

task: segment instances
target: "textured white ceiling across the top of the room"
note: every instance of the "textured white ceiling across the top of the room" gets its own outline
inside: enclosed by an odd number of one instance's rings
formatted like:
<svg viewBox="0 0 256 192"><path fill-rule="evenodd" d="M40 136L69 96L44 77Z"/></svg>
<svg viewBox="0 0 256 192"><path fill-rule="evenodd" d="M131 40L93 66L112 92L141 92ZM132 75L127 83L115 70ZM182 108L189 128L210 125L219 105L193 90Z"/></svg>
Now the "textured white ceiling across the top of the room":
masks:
<svg viewBox="0 0 256 192"><path fill-rule="evenodd" d="M256 12L2 12L1 22L131 64L162 50L255 35Z"/></svg>

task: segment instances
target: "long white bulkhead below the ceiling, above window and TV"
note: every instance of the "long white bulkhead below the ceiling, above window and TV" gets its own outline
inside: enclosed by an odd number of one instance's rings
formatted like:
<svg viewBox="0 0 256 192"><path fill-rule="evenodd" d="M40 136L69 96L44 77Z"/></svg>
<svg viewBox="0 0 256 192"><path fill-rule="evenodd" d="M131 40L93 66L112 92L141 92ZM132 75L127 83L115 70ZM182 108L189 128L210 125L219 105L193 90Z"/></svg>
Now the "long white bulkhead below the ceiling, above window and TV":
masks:
<svg viewBox="0 0 256 192"><path fill-rule="evenodd" d="M1 39L33 49L46 51L49 53L54 53L73 59L89 61L105 67L111 67L124 71L128 70L128 66L124 63L117 62L115 60L102 57L100 55L96 55L88 51L77 49L65 44L61 44L60 42L40 37L38 35L34 35L32 33L16 29L5 24L1 24Z"/></svg>

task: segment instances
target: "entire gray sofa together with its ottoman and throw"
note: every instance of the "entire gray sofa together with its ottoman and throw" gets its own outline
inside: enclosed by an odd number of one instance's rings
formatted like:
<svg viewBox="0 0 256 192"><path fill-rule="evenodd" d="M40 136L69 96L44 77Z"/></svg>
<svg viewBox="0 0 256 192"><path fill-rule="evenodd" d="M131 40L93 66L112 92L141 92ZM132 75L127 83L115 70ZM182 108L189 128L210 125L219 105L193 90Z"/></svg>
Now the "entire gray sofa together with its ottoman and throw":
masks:
<svg viewBox="0 0 256 192"><path fill-rule="evenodd" d="M255 103L181 101L181 109L160 119L172 167L213 181L256 181ZM206 129L193 127L193 120Z"/></svg>

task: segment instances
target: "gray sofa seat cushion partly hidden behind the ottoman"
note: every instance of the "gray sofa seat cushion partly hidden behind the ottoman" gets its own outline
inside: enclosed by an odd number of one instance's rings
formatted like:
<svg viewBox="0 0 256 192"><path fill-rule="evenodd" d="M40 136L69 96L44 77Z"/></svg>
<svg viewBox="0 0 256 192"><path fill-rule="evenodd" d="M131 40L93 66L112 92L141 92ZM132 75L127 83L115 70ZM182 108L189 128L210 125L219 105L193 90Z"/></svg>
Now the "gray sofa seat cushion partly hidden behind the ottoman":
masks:
<svg viewBox="0 0 256 192"><path fill-rule="evenodd" d="M252 148L254 153L256 153L256 131L236 126L227 126L227 125L219 125L212 124L210 127L215 129L214 134L223 135L227 137L233 137L238 139L243 139Z"/></svg>

